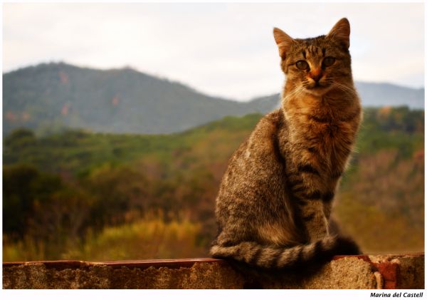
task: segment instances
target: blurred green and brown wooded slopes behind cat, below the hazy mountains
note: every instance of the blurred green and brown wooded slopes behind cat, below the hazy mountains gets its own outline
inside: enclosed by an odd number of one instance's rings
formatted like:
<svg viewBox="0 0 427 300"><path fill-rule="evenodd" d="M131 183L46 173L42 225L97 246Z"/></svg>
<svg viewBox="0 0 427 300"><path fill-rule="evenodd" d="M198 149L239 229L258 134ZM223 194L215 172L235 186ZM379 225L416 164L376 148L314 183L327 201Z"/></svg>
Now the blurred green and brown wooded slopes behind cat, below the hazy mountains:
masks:
<svg viewBox="0 0 427 300"><path fill-rule="evenodd" d="M228 158L260 118L169 135L14 130L4 137L3 260L208 256ZM364 110L334 207L364 252L423 251L423 128L423 110Z"/></svg>

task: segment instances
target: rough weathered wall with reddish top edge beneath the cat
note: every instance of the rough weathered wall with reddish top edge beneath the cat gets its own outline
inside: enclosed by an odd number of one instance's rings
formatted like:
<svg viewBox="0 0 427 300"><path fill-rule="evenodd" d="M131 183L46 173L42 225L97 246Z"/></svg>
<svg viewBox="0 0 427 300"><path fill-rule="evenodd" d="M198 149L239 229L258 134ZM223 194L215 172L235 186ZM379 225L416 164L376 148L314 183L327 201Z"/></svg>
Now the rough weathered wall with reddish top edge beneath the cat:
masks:
<svg viewBox="0 0 427 300"><path fill-rule="evenodd" d="M221 259L4 262L4 289L424 289L424 254L338 256L316 270L238 271Z"/></svg>

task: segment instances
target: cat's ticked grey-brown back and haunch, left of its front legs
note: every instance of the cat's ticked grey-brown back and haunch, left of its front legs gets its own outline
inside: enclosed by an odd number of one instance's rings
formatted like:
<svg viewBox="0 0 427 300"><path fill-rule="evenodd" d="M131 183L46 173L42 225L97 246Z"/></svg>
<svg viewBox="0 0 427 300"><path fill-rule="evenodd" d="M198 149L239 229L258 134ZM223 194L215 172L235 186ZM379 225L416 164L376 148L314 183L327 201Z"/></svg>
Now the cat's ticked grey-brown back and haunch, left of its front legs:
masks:
<svg viewBox="0 0 427 300"><path fill-rule="evenodd" d="M283 111L274 110L234 152L216 198L221 238L232 235L260 244L297 240L285 182L286 135Z"/></svg>

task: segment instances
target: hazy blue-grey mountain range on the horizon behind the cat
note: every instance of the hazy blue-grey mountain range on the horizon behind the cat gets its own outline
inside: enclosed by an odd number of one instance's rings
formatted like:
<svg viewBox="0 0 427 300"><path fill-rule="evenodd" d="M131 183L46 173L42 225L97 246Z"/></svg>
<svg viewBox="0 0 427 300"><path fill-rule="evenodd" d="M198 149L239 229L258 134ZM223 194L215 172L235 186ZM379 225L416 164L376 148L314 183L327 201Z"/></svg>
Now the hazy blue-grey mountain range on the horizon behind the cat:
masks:
<svg viewBox="0 0 427 300"><path fill-rule="evenodd" d="M423 108L423 89L357 83L364 105ZM241 103L204 95L132 68L107 71L43 63L3 76L3 133L84 128L110 133L173 133L226 115L267 113L279 94Z"/></svg>

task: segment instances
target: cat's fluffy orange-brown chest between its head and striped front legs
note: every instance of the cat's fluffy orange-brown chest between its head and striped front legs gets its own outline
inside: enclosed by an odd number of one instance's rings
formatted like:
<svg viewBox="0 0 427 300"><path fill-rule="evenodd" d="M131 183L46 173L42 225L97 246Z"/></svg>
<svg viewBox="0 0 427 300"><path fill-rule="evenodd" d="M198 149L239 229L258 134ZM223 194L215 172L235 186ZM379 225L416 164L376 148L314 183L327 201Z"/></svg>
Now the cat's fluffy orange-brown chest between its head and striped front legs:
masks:
<svg viewBox="0 0 427 300"><path fill-rule="evenodd" d="M314 97L293 103L290 100L289 104L288 110L285 105L285 115L293 164L310 161L324 175L339 177L357 133L359 106Z"/></svg>

